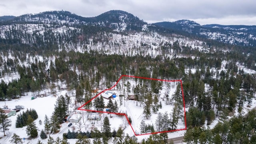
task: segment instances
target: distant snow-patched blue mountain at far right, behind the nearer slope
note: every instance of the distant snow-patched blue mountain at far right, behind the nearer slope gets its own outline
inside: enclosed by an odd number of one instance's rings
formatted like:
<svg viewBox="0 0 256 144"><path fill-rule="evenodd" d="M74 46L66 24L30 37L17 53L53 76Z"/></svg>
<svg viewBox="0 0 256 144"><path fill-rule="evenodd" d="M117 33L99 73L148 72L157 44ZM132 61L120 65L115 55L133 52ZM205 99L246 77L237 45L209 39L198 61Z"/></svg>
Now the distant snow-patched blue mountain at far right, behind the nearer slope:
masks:
<svg viewBox="0 0 256 144"><path fill-rule="evenodd" d="M172 30L185 31L195 36L200 36L227 44L237 44L243 46L256 45L256 26L224 26L219 24L208 24L201 26L200 24L190 20L158 22L154 24Z"/></svg>

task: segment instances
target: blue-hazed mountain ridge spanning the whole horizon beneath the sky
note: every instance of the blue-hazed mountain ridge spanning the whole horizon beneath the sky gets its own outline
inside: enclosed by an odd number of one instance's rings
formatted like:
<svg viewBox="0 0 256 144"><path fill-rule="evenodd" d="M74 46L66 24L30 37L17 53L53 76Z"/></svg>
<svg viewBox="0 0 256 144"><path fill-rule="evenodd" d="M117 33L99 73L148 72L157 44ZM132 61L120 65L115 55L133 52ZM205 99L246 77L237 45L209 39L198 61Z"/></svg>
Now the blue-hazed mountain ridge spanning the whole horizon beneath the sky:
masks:
<svg viewBox="0 0 256 144"><path fill-rule="evenodd" d="M124 31L162 31L185 36L206 38L242 46L256 46L256 26L246 25L200 25L192 20L175 22L157 22L148 24L137 16L122 10L110 10L94 17L83 17L68 11L46 11L38 14L24 14L0 22L0 25L12 24L50 24L53 26L91 25L110 28L117 32ZM157 27L156 27L157 26ZM164 28L164 29L161 29Z"/></svg>

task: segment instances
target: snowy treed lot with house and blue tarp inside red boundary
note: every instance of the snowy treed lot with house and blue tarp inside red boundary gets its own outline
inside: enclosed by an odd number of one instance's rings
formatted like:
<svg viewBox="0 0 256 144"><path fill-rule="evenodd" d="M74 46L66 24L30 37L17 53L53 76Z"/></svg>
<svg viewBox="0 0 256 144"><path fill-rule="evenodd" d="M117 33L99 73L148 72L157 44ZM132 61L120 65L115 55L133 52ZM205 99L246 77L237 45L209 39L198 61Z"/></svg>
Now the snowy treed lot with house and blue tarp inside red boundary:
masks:
<svg viewBox="0 0 256 144"><path fill-rule="evenodd" d="M87 111L88 118L92 120L94 115L110 114L110 118L114 117L112 126L120 124L119 126L122 126L124 132L129 135L134 133L135 136L140 136L186 130L181 80L122 75L114 86L102 90L78 110ZM124 119L127 120L127 125L124 124ZM128 124L130 130L126 128Z"/></svg>

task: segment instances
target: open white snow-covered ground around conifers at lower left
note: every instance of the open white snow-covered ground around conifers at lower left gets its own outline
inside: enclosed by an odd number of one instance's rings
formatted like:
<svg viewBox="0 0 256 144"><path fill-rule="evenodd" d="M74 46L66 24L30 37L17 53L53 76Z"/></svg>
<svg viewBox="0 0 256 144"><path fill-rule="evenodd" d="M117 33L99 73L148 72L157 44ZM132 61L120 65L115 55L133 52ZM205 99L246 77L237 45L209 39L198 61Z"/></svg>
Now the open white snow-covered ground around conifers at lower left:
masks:
<svg viewBox="0 0 256 144"><path fill-rule="evenodd" d="M66 94L66 90L62 90L56 93L57 96L60 95L64 95ZM13 133L16 133L17 135L20 136L20 138L25 138L24 143L28 143L28 144L36 144L36 142L38 140L41 140L41 142L43 142L44 144L47 143L47 139L42 140L40 138L40 131L42 129L44 129L44 117L45 115L48 116L48 118L50 118L50 116L52 115L52 112L54 111L54 104L56 104L56 99L57 96L53 96L52 94L49 93L49 90L43 90L41 91L41 94L46 94L45 97L38 97L34 100L31 100L33 94L32 92L28 92L26 93L26 96L22 96L19 99L14 99L14 100L10 100L10 101L2 101L0 102L0 106L2 108L2 106L7 105L8 108L10 109L14 109L16 105L22 105L25 107L24 110L21 110L20 112L16 113L16 116L10 116L9 119L12 120L12 126L10 127L10 130L8 130L6 132L7 136L4 136L4 134L1 132L0 133L0 144L10 144L10 140L11 137L13 135ZM22 111L26 111L26 109L30 109L33 108L36 110L37 114L38 114L38 119L35 120L36 126L38 127L38 137L32 140L28 140L26 138L28 138L27 134L26 134L26 126L24 126L23 128L16 128L15 127L15 122L16 122L16 117L17 114L22 113ZM70 110L72 110L72 108L70 108ZM42 125L39 124L39 120L42 120ZM64 123L62 124L61 128L60 128L60 132L58 134L51 134L50 136L53 137L54 139L56 139L58 136L60 138L62 138L62 135L64 132L68 132L68 129L70 129L70 131L72 131L71 127L68 127L68 123ZM75 140L68 140L70 142L70 144L74 144Z"/></svg>

